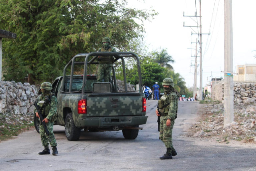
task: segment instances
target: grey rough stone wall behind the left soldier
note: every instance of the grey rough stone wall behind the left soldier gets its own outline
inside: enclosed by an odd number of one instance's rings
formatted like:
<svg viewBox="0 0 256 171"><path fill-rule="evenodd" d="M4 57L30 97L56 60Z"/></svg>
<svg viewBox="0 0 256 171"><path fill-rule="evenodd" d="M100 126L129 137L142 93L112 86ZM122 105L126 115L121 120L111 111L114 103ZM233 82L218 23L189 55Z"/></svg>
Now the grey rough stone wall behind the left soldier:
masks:
<svg viewBox="0 0 256 171"><path fill-rule="evenodd" d="M35 85L0 81L0 113L33 114L37 95Z"/></svg>

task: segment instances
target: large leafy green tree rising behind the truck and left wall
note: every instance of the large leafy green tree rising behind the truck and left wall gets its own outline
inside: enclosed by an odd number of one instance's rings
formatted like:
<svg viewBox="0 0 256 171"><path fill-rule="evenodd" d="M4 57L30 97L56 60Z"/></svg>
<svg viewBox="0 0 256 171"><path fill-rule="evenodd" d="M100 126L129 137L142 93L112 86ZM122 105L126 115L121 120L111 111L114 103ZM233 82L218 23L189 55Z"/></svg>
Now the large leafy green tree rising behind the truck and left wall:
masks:
<svg viewBox="0 0 256 171"><path fill-rule="evenodd" d="M5 80L29 75L30 83L52 81L74 55L97 51L103 37L119 50L129 49L145 32L136 20L157 13L125 5L126 0L2 0L0 28L17 34L3 40Z"/></svg>

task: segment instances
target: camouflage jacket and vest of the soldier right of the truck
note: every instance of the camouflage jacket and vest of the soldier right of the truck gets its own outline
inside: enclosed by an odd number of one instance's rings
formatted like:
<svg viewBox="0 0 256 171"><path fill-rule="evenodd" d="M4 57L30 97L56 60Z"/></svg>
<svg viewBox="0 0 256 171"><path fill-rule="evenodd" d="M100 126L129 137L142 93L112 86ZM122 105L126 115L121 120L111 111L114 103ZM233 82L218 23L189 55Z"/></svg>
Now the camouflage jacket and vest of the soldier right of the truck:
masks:
<svg viewBox="0 0 256 171"><path fill-rule="evenodd" d="M176 119L176 113L178 111L178 96L175 91L169 94L164 94L160 100L158 100L159 111L161 112L160 119Z"/></svg>

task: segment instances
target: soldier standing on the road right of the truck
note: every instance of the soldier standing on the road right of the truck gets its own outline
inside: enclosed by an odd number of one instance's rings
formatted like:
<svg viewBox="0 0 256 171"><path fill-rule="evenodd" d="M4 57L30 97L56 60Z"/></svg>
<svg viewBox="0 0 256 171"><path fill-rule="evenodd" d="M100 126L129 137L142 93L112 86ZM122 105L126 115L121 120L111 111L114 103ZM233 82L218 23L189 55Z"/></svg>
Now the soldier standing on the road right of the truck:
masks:
<svg viewBox="0 0 256 171"><path fill-rule="evenodd" d="M172 159L172 156L177 155L172 146L172 129L177 118L178 96L172 79L164 79L162 85L164 95L158 100L159 109L156 109L156 115L161 116L159 139L164 142L167 150L160 159Z"/></svg>

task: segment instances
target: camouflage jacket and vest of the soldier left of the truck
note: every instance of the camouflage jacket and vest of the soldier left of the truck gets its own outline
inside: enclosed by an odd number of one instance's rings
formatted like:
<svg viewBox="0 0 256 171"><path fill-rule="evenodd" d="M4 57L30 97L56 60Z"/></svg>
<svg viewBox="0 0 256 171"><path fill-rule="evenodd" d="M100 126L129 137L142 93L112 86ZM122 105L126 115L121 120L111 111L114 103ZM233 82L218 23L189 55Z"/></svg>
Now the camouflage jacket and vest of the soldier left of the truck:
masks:
<svg viewBox="0 0 256 171"><path fill-rule="evenodd" d="M42 115L50 122L54 122L57 116L57 98L53 94L41 94L37 104L42 108ZM37 112L37 109L35 110Z"/></svg>

